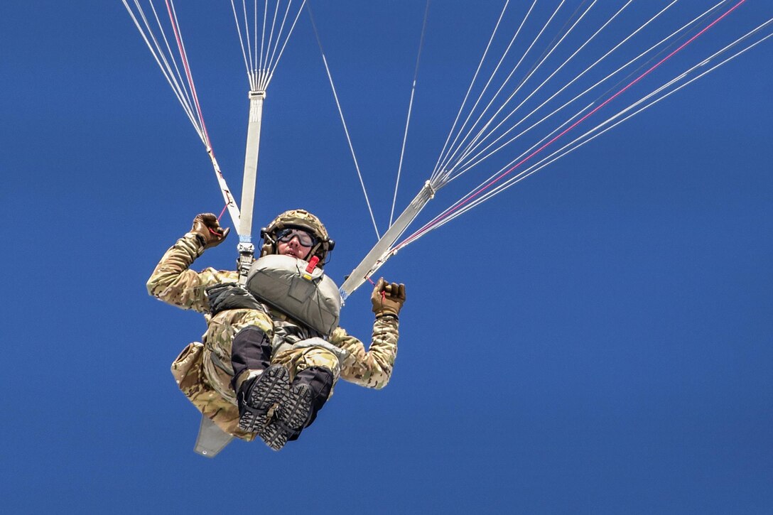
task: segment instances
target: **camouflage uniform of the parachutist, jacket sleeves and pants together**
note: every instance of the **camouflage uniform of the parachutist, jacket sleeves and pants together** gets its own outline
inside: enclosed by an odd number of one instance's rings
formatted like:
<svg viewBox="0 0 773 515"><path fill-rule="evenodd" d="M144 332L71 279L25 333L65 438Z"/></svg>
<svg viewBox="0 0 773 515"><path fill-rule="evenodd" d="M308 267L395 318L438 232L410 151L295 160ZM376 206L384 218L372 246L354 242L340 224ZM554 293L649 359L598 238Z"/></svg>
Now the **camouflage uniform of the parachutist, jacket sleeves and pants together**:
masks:
<svg viewBox="0 0 773 515"><path fill-rule="evenodd" d="M256 326L271 339L274 349L272 364L288 368L291 378L308 367L325 367L332 371L334 382L344 380L369 388L382 388L389 382L397 355L397 319L376 318L369 350L340 327L323 345L305 346L309 335L294 321L267 309L231 309L209 314L206 288L238 280L236 271L201 272L189 269L204 247L195 234L188 233L166 251L148 279L148 293L182 309L193 309L204 315L207 330L202 343L193 342L172 363L172 375L180 390L220 429L243 440L253 440L254 433L238 427L239 410L231 387L231 342L241 329ZM276 329L276 330L275 330ZM311 335L315 336L315 335Z"/></svg>

